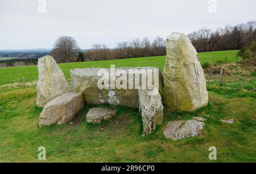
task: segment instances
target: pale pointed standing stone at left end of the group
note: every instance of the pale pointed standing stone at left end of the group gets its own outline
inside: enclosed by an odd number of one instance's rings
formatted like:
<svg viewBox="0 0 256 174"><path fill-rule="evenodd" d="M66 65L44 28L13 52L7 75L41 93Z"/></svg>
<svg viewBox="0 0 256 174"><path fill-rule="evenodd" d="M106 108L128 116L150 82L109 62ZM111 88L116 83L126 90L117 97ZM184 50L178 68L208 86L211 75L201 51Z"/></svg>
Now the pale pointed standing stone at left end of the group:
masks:
<svg viewBox="0 0 256 174"><path fill-rule="evenodd" d="M67 80L63 72L51 56L45 56L38 59L38 100L36 105L44 107L55 97L63 95L70 91Z"/></svg>

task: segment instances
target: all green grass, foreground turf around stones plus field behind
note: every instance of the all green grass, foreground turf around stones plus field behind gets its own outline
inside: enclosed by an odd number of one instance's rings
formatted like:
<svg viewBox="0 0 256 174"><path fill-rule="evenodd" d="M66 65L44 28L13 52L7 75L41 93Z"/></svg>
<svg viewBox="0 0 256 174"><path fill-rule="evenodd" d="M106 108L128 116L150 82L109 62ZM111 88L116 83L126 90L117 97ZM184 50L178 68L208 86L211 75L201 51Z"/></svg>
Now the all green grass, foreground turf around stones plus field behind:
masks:
<svg viewBox="0 0 256 174"><path fill-rule="evenodd" d="M233 55L228 60L236 61L236 52L233 51L208 54L200 54L204 59L202 62L214 63L225 59L223 54ZM60 66L68 77L68 71L73 68L109 67L110 64L163 69L164 57ZM26 72L30 76L19 74ZM6 76L11 73L16 73L16 77L30 77L30 80L36 80L38 75L35 66L0 69L3 79L8 79ZM255 78L255 75L255 72L252 73L250 78ZM6 82L2 80L1 84ZM232 85L237 88L240 84L232 81ZM208 83L208 92L207 107L193 113L164 111L163 126L153 134L142 137L142 120L138 110L118 106L112 107L117 109L117 116L100 125L86 123L86 113L95 107L91 105L82 109L72 125L38 128L42 109L35 105L36 87L0 87L0 162L40 162L39 146L46 147L46 162L255 162L256 93L242 88L218 87L215 83ZM163 130L168 121L187 120L193 116L207 118L201 137L177 142L164 138ZM234 118L236 123L222 124L220 120L225 118ZM208 159L210 146L217 147L216 161Z"/></svg>

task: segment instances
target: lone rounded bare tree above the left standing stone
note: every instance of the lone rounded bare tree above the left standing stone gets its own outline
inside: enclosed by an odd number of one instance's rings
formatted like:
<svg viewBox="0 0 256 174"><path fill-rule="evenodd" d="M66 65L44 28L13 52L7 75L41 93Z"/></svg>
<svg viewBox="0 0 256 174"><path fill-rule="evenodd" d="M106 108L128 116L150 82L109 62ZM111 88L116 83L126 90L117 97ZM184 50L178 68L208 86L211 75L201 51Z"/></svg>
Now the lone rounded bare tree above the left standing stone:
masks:
<svg viewBox="0 0 256 174"><path fill-rule="evenodd" d="M55 52L59 52L59 55L64 57L66 63L68 63L71 58L77 56L79 53L77 41L70 36L59 37L59 39L56 40L53 49Z"/></svg>

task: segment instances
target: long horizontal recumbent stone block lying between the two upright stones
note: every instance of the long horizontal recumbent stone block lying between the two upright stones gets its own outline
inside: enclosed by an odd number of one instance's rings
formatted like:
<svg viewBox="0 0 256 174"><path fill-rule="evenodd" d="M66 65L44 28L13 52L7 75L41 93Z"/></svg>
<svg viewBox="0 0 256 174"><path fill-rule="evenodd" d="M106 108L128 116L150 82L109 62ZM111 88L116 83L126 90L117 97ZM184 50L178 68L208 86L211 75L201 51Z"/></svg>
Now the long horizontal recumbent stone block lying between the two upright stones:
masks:
<svg viewBox="0 0 256 174"><path fill-rule="evenodd" d="M137 75L135 75L136 73L133 74L133 76L129 75L130 70L142 74L141 77L150 74L145 72L151 70L151 82L154 82L151 84L153 86L157 86L158 84L159 92L162 94L163 77L160 70L154 67L118 68L115 69L114 78L110 78L110 69L73 69L70 72L72 78L71 91L82 93L86 104L111 104L139 108L138 88L134 88L133 84L135 84L135 79L139 80L142 78L138 79ZM100 73L103 71L108 74L106 77ZM158 80L154 78L155 71L159 71ZM100 86L108 88L98 88L99 82ZM120 89L115 86L112 88L113 86L110 86L112 82L126 86L126 89ZM141 80L139 80L139 82L141 82ZM140 84L142 85L142 83ZM133 88L129 86L133 86Z"/></svg>

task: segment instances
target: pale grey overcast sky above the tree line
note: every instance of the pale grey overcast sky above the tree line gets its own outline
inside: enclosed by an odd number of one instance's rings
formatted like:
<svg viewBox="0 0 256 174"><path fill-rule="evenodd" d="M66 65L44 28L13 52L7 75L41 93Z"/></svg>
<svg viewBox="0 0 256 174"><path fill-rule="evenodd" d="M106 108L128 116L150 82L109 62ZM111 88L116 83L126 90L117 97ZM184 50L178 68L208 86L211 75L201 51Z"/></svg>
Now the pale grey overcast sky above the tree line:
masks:
<svg viewBox="0 0 256 174"><path fill-rule="evenodd" d="M165 39L175 31L256 19L255 0L216 2L211 13L209 0L46 0L40 13L38 0L0 0L0 49L52 48L62 35L74 37L82 49L96 43L114 48L137 37Z"/></svg>

